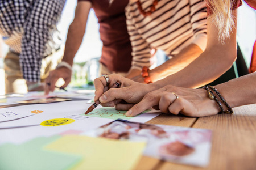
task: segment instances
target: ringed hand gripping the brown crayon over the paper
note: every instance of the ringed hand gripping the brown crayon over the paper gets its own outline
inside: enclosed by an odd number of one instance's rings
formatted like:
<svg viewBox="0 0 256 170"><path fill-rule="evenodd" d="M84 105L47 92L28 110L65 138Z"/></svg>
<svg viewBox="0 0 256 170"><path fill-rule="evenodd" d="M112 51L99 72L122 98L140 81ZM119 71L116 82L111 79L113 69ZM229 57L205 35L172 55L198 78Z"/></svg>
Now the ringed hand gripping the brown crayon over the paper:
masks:
<svg viewBox="0 0 256 170"><path fill-rule="evenodd" d="M116 82L120 82L120 88L110 88ZM155 89L154 84L142 84L134 82L118 74L109 75L109 86L106 87L106 79L100 77L94 80L94 101L100 100L102 106L114 107L118 110L127 110L135 103L141 101L148 92ZM122 101L125 101L123 103Z"/></svg>

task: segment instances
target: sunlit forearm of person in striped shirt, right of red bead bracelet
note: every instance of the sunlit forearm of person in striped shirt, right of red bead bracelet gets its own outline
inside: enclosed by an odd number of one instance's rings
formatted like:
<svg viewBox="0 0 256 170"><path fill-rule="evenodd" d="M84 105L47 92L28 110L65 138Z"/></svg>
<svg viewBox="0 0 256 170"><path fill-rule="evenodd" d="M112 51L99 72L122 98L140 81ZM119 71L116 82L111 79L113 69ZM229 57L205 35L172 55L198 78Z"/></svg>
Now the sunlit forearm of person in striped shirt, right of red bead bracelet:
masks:
<svg viewBox="0 0 256 170"><path fill-rule="evenodd" d="M149 74L151 80L156 82L157 80L166 78L168 75L177 73L199 57L202 52L203 51L201 48L199 48L199 46L195 44L188 45L174 58L166 61L155 69L150 70Z"/></svg>

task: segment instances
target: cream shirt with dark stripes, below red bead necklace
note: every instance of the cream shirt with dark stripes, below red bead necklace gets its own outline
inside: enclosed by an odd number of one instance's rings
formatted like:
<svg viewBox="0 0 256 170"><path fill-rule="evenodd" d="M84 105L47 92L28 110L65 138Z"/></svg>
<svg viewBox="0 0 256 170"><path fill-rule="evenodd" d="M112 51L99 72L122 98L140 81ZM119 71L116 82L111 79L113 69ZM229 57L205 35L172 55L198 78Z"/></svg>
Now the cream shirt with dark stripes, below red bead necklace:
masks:
<svg viewBox="0 0 256 170"><path fill-rule="evenodd" d="M154 0L140 0L144 11ZM203 0L159 0L156 10L143 16L136 2L129 2L127 30L132 46L132 68L150 67L150 49L163 50L170 58L189 44L205 50L207 44L207 10Z"/></svg>

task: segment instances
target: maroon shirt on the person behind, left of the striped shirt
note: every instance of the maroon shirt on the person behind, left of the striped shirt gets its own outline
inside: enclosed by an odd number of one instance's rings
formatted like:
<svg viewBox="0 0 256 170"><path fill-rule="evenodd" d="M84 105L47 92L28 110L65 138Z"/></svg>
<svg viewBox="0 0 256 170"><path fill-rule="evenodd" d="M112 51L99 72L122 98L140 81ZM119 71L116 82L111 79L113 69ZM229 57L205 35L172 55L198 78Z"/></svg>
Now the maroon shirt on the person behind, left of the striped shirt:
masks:
<svg viewBox="0 0 256 170"><path fill-rule="evenodd" d="M103 43L100 62L110 71L127 72L131 67L131 42L126 28L125 7L129 0L90 1L100 24Z"/></svg>

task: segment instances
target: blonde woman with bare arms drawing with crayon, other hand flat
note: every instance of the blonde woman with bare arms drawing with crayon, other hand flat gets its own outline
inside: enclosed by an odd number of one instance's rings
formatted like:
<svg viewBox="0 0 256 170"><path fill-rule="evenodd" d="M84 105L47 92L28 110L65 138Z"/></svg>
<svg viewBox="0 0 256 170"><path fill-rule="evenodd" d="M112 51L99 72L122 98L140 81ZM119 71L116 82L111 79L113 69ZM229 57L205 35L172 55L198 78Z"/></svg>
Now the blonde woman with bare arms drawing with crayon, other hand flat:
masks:
<svg viewBox="0 0 256 170"><path fill-rule="evenodd" d="M187 73L184 74L187 75L186 77L192 76L192 80L174 81L179 77L175 74L155 83L142 84L114 74L109 75L109 87L119 81L121 88L105 91L107 90L106 79L103 76L94 80L96 88L94 101L99 99L102 105L115 106L118 110L129 109L126 116L135 116L147 108L154 107L163 113L181 113L192 117L218 114L221 112L221 107L224 111L228 110L232 113L232 107L256 103L256 73L219 84L215 88L210 86L204 87L205 89L184 88L202 86L216 75L214 70L217 70L217 66L222 65L222 62L214 62L211 59L214 56L225 58L236 54L237 7L241 5L241 1L231 2L233 3L230 3L230 0L207 2L210 8L207 49L202 54L204 57L201 55L183 70ZM256 1L251 1L249 5L256 5ZM226 12L226 9L230 10ZM224 97L224 101L218 93L222 95L222 98ZM125 100L126 104L120 102L121 99Z"/></svg>

